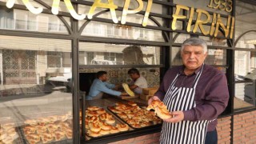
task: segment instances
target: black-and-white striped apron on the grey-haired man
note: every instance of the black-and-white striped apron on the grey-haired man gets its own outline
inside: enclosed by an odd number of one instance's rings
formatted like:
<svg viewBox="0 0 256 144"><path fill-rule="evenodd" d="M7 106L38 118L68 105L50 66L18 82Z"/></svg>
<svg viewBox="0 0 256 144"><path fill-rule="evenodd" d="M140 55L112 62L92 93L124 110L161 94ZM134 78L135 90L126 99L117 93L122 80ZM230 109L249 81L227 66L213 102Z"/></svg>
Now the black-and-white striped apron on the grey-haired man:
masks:
<svg viewBox="0 0 256 144"><path fill-rule="evenodd" d="M190 110L196 106L194 101L195 88L202 74L202 69L196 75L192 88L175 87L179 74L176 75L166 92L163 102L170 111ZM181 122L163 122L160 137L162 144L203 144L206 138L207 126L210 121L181 121Z"/></svg>

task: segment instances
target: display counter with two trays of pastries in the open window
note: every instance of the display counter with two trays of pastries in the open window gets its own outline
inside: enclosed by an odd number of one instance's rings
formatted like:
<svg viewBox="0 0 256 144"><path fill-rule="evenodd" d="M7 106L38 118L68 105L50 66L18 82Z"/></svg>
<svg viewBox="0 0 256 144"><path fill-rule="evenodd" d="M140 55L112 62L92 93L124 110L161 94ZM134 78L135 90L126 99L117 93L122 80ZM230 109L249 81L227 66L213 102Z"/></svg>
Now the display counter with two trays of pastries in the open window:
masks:
<svg viewBox="0 0 256 144"><path fill-rule="evenodd" d="M115 142L161 130L162 120L146 110L146 101L139 98L103 98L84 103L84 110L80 110L82 142Z"/></svg>

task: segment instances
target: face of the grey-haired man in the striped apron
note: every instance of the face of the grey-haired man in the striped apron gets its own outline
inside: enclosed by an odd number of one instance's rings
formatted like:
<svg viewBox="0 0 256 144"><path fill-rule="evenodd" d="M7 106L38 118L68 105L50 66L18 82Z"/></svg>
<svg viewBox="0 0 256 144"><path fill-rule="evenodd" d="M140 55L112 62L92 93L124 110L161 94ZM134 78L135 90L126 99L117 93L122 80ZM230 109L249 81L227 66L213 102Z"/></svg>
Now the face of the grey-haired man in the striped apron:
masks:
<svg viewBox="0 0 256 144"><path fill-rule="evenodd" d="M182 62L188 70L196 70L202 66L207 54L204 54L202 46L185 46L182 51Z"/></svg>

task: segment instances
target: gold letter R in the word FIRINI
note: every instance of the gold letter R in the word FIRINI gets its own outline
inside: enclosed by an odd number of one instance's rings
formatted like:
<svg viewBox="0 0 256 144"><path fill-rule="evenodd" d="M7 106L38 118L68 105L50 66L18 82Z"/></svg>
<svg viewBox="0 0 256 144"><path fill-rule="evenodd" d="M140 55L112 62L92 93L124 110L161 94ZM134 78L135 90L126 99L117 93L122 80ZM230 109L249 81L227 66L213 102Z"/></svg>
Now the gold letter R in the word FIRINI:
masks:
<svg viewBox="0 0 256 144"><path fill-rule="evenodd" d="M197 21L195 22L195 25L194 25L193 33L197 32L198 26L199 26L200 30L202 31L202 34L204 34L204 35L209 34L210 31L206 31L203 28L202 24L206 24L210 21L210 14L206 10L200 10L200 9L197 10L197 13L198 13L198 17L197 17ZM201 20L201 14L206 14L207 19L205 21Z"/></svg>

